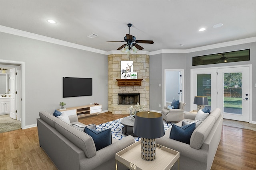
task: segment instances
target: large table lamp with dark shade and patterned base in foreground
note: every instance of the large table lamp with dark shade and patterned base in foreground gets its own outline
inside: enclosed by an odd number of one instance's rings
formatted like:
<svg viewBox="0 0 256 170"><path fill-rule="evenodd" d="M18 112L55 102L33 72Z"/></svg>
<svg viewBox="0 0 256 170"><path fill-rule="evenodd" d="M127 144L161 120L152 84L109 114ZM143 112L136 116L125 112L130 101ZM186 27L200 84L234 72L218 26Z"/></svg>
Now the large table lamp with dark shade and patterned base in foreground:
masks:
<svg viewBox="0 0 256 170"><path fill-rule="evenodd" d="M162 114L142 111L135 115L133 133L141 137L141 157L144 160L156 159L156 138L164 136Z"/></svg>

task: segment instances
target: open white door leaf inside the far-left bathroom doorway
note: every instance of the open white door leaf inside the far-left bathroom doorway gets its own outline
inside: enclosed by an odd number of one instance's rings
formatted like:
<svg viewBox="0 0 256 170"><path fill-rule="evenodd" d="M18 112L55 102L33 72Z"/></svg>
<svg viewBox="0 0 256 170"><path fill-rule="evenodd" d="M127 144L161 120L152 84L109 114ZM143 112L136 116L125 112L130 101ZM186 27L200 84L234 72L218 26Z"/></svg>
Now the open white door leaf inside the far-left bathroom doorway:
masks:
<svg viewBox="0 0 256 170"><path fill-rule="evenodd" d="M10 69L10 96L10 117L16 120L16 68Z"/></svg>

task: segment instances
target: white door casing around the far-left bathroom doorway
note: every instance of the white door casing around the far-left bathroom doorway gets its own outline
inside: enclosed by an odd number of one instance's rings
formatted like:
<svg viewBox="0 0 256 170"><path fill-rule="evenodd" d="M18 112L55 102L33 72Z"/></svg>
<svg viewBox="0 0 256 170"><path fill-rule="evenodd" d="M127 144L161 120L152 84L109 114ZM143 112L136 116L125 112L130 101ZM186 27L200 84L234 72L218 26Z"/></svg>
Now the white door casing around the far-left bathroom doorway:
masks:
<svg viewBox="0 0 256 170"><path fill-rule="evenodd" d="M10 67L18 67L18 83L17 83L17 120L21 121L21 128L25 129L25 62L0 60L0 64L8 65Z"/></svg>

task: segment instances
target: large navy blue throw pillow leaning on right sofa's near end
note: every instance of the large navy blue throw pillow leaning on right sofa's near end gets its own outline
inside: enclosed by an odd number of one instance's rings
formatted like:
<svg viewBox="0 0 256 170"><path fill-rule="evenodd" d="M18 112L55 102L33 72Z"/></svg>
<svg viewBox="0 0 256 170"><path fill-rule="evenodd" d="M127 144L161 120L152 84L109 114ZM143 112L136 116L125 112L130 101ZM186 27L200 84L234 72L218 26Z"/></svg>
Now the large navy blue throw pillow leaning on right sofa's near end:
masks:
<svg viewBox="0 0 256 170"><path fill-rule="evenodd" d="M190 137L195 129L196 129L196 123L184 125L182 127L179 127L177 125L172 125L172 129L170 132L170 139L174 139L176 141L180 141L182 143L186 143L189 145Z"/></svg>

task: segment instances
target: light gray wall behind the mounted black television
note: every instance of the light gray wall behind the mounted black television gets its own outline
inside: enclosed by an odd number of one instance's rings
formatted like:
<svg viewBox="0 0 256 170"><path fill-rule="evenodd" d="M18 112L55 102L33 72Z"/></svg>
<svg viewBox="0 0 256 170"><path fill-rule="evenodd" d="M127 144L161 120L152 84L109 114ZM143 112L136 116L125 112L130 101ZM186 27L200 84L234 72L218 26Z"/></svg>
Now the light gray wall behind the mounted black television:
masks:
<svg viewBox="0 0 256 170"><path fill-rule="evenodd" d="M39 111L99 103L108 109L108 57L0 32L0 59L25 62L26 121L36 124ZM62 77L92 78L92 96L62 98Z"/></svg>

